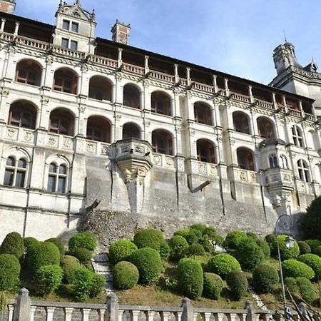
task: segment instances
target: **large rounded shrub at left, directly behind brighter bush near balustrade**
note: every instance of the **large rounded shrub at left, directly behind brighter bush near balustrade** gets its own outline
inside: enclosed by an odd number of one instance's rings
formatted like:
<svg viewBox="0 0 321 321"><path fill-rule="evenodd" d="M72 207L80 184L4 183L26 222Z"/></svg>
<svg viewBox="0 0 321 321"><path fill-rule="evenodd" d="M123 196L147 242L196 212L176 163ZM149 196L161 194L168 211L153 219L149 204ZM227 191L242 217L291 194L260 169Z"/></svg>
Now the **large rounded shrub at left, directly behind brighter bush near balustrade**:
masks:
<svg viewBox="0 0 321 321"><path fill-rule="evenodd" d="M28 265L36 271L44 265L59 265L60 252L54 243L40 242L34 245L28 255Z"/></svg>

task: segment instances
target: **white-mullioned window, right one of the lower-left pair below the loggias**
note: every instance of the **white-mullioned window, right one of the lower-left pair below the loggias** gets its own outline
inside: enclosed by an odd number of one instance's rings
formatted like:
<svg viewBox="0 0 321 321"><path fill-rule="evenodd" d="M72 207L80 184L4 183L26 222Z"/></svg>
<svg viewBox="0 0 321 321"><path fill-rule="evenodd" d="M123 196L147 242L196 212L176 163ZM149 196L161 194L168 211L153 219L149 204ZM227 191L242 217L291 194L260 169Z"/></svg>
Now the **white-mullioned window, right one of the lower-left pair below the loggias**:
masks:
<svg viewBox="0 0 321 321"><path fill-rule="evenodd" d="M51 163L49 165L47 190L54 193L66 193L67 167L64 164L57 165Z"/></svg>

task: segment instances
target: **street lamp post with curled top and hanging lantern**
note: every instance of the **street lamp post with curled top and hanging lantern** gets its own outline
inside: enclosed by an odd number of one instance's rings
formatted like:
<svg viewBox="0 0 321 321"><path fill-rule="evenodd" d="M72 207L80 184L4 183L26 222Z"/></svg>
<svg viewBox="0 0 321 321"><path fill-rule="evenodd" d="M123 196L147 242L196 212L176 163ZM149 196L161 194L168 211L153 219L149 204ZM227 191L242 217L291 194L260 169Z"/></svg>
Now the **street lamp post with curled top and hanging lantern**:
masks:
<svg viewBox="0 0 321 321"><path fill-rule="evenodd" d="M285 238L285 246L287 248L293 248L294 246L294 239L290 236L290 230L292 228L292 218L290 215L281 215L277 218L275 222L275 234L276 237L278 234L279 228L282 227L283 233L287 233L287 237ZM285 285L283 279L283 271L282 271L282 262L281 262L281 255L280 255L280 244L277 238L277 259L279 260L279 267L280 267L280 279L281 279L281 287L282 287L282 299L283 299L283 310L284 316L286 320L290 320L290 310L287 307L286 297L285 297Z"/></svg>

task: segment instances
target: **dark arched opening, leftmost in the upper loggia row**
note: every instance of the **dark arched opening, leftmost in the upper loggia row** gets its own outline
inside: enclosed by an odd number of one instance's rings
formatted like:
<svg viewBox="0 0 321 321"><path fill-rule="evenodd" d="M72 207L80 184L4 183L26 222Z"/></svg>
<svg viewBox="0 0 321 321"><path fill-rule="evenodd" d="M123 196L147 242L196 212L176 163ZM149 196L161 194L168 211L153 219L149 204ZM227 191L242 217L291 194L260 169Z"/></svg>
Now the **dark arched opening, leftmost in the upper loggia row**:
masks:
<svg viewBox="0 0 321 321"><path fill-rule="evenodd" d="M40 86L41 67L32 60L23 60L16 65L16 81Z"/></svg>

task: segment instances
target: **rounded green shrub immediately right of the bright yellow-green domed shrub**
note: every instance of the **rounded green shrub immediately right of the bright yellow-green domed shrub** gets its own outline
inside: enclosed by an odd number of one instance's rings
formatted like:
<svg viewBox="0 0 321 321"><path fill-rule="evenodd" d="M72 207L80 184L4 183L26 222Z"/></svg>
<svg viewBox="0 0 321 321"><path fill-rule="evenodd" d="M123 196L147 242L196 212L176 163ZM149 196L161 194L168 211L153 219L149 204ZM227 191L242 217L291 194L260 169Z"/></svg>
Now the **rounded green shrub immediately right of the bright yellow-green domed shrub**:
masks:
<svg viewBox="0 0 321 321"><path fill-rule="evenodd" d="M238 244L236 257L244 270L253 270L265 258L263 248L253 239L244 239Z"/></svg>

